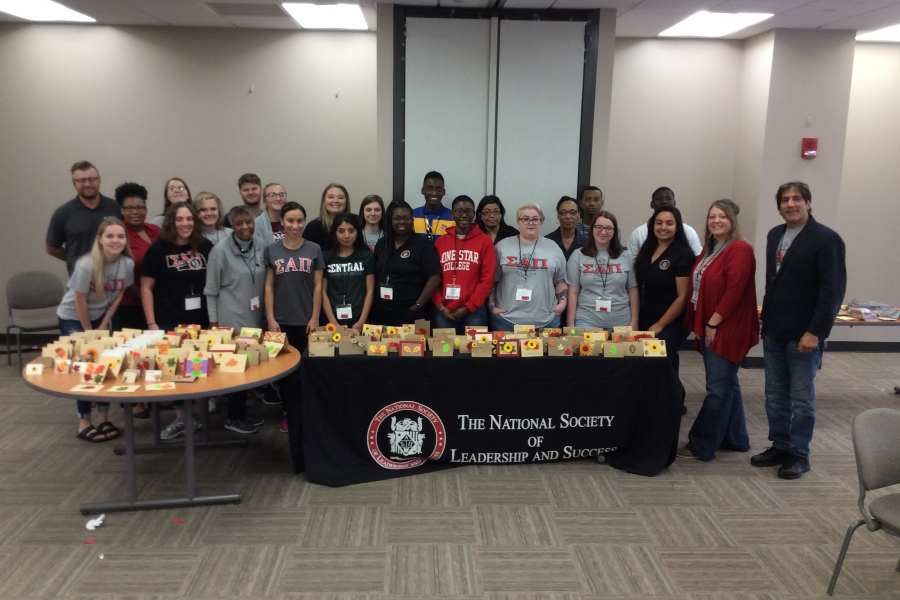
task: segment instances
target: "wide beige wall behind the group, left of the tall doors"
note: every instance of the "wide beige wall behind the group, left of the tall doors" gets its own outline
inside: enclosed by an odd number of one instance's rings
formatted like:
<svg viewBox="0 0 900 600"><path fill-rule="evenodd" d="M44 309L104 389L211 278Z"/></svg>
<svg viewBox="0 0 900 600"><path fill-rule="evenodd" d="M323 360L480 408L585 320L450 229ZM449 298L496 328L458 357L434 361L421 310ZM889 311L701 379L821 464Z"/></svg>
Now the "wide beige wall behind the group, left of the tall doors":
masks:
<svg viewBox="0 0 900 600"><path fill-rule="evenodd" d="M355 206L389 192L376 178L375 56L374 33L0 26L0 181L13 226L0 236L0 284L26 269L65 273L44 235L82 158L108 195L125 180L147 186L154 213L175 174L228 207L244 171L284 183L314 214L332 180Z"/></svg>

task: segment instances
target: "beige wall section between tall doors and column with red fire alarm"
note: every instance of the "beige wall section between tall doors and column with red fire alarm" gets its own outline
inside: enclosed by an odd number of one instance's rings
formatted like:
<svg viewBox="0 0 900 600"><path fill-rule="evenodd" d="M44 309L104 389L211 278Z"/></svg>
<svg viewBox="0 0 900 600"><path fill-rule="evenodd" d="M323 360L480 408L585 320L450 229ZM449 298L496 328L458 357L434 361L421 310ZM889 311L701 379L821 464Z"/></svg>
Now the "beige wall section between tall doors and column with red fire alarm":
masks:
<svg viewBox="0 0 900 600"><path fill-rule="evenodd" d="M608 179L594 183L623 231L646 222L662 185L697 229L731 196L741 62L740 42L616 40Z"/></svg>

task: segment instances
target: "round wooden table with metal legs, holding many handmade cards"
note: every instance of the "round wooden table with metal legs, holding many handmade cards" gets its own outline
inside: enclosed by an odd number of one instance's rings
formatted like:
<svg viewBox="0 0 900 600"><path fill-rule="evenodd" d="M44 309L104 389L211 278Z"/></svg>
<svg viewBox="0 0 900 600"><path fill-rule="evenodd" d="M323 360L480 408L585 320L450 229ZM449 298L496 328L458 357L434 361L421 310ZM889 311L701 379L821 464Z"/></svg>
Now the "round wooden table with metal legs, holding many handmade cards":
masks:
<svg viewBox="0 0 900 600"><path fill-rule="evenodd" d="M123 405L125 412L125 445L117 449L117 454L124 454L126 458L127 495L124 500L111 500L94 502L81 505L81 513L95 514L103 512L117 512L128 510L149 510L155 508L175 508L181 506L206 506L210 504L237 504L241 501L239 493L217 494L212 496L197 495L197 475L194 463L194 449L198 445L204 447L245 444L246 440L231 440L223 442L209 442L204 439L197 443L194 439L193 403L195 400L222 396L260 387L267 383L282 379L292 373L300 365L300 353L293 346L285 346L276 358L260 363L257 366L247 367L243 373L222 373L217 369L208 377L198 378L191 383L175 383L174 390L147 391L144 389L143 380L136 381L140 389L132 393L115 393L107 391L111 386L124 385L120 379L108 378L103 383L101 392L73 392L72 388L82 383L78 374L56 375L52 369L44 369L41 375L26 375L22 370L22 378L29 387L59 398L69 400L87 400L90 402L110 402ZM27 368L27 367L26 367ZM184 463L185 463L185 495L174 498L154 498L138 500L136 455L152 452L165 452L177 445L165 445L159 443L159 404L179 400L184 402ZM153 408L154 416L154 444L138 448L134 442L134 405L149 404ZM206 402L200 403L204 417ZM205 420L205 419L204 419ZM206 435L208 427L204 428Z"/></svg>

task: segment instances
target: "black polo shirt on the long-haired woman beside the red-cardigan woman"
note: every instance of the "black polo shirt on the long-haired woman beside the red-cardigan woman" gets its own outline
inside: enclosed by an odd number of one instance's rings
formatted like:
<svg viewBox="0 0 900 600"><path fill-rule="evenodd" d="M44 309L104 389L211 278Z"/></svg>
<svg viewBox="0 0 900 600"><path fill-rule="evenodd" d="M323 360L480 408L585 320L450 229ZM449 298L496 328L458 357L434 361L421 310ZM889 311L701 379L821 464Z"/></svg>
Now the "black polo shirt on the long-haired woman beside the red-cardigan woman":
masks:
<svg viewBox="0 0 900 600"><path fill-rule="evenodd" d="M642 323L655 323L669 310L678 297L675 278L690 277L695 258L690 247L673 244L652 263L650 256L635 261Z"/></svg>

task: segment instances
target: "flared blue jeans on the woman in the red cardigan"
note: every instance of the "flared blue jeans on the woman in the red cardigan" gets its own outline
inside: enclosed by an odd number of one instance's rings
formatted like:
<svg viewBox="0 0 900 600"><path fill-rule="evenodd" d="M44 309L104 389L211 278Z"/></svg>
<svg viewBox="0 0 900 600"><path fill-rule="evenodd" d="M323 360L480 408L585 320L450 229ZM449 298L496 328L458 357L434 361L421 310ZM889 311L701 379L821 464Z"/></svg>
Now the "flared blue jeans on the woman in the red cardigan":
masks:
<svg viewBox="0 0 900 600"><path fill-rule="evenodd" d="M703 348L706 398L688 434L688 448L700 460L712 460L716 450L750 449L738 368L710 348Z"/></svg>

